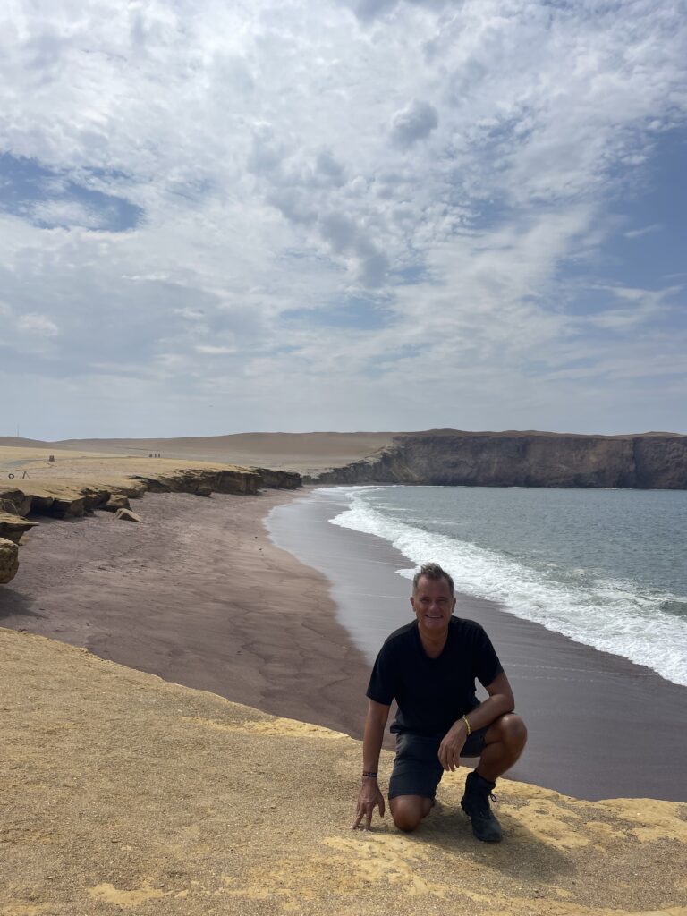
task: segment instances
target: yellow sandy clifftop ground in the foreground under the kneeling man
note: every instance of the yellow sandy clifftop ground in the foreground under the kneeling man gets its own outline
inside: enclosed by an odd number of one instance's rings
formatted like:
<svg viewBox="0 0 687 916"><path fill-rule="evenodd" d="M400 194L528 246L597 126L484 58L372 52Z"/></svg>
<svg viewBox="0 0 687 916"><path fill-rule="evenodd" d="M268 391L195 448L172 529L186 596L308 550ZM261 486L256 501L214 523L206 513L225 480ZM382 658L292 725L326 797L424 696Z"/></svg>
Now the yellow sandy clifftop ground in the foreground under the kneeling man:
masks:
<svg viewBox="0 0 687 916"><path fill-rule="evenodd" d="M353 833L347 736L44 638L0 653L2 916L687 916L685 805L501 780L482 845L463 770L416 834Z"/></svg>

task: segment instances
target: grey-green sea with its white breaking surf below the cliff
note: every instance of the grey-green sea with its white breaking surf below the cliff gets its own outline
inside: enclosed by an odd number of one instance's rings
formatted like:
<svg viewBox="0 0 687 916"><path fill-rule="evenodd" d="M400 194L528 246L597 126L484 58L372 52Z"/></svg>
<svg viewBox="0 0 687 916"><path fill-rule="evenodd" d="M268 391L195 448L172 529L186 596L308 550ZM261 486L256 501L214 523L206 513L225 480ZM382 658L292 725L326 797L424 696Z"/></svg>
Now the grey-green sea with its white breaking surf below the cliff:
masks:
<svg viewBox="0 0 687 916"><path fill-rule="evenodd" d="M440 562L460 593L687 685L687 492L385 485L313 496L329 524L404 554L399 576Z"/></svg>

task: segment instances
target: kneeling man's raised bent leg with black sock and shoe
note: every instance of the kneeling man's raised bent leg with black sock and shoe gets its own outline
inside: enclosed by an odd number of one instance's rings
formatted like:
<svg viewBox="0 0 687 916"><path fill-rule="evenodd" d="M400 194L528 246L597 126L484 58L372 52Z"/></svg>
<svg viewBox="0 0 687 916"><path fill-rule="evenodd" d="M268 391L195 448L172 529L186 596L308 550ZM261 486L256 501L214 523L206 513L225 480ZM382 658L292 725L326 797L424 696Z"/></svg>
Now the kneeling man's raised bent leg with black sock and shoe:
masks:
<svg viewBox="0 0 687 916"><path fill-rule="evenodd" d="M513 766L526 741L527 728L515 713L500 716L485 731L484 747L477 769L468 773L461 800L461 807L471 818L473 833L478 840L498 843L502 837L501 824L491 811L489 797L496 787L496 778ZM467 743L465 749L468 756L472 756Z"/></svg>

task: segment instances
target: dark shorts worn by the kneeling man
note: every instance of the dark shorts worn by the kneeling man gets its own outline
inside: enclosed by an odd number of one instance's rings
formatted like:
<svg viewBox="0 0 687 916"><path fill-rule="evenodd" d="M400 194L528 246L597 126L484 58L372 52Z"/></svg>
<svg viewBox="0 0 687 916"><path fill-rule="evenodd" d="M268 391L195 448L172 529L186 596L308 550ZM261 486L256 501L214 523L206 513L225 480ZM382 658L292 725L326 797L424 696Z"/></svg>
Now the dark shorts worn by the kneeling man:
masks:
<svg viewBox="0 0 687 916"><path fill-rule="evenodd" d="M482 754L488 727L477 728L468 736L461 757L479 757ZM396 736L396 760L388 784L389 799L397 795L434 798L443 776L438 757L442 737L415 735L412 732Z"/></svg>

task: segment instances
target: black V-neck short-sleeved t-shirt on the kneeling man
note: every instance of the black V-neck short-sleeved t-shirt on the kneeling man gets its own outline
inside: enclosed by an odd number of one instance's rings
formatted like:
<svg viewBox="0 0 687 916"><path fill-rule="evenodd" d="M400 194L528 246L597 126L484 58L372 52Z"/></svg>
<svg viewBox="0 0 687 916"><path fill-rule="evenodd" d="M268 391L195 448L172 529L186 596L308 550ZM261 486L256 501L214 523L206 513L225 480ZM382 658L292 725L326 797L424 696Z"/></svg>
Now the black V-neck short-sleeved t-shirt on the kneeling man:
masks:
<svg viewBox="0 0 687 916"><path fill-rule="evenodd" d="M484 629L474 620L452 616L442 654L431 659L422 648L418 621L392 633L376 657L367 696L398 714L392 732L445 735L456 719L479 701L474 679L490 684L503 671Z"/></svg>

